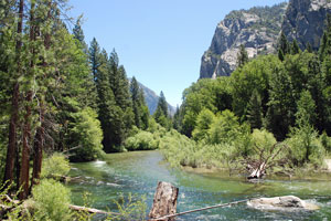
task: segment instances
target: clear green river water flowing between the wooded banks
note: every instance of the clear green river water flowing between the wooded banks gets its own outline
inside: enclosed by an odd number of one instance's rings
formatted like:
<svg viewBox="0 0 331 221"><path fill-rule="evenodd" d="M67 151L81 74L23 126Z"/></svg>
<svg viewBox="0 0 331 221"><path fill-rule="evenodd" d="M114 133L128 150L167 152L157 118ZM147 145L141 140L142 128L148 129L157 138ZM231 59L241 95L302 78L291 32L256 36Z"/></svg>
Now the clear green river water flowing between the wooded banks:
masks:
<svg viewBox="0 0 331 221"><path fill-rule="evenodd" d="M158 181L168 181L179 188L179 212L254 197L286 194L300 197L321 208L313 212L270 212L254 210L243 203L191 213L177 220L331 220L330 179L249 183L244 178L220 172L197 173L170 168L159 151L110 154L105 161L73 164L72 167L71 176L78 177L68 183L75 204L82 204L83 192L89 192L92 207L116 211L114 200L118 200L120 193L132 193L146 194L150 209Z"/></svg>

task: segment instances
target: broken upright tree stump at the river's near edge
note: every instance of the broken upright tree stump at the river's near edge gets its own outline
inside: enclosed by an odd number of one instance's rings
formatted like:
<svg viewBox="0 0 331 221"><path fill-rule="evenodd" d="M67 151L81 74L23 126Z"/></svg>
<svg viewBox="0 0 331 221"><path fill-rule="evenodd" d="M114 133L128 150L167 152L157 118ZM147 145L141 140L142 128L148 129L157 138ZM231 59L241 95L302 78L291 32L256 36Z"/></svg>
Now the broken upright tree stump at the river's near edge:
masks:
<svg viewBox="0 0 331 221"><path fill-rule="evenodd" d="M153 199L153 206L149 213L149 218L158 219L164 215L174 214L177 212L177 199L179 189L169 182L159 182ZM164 219L173 221L174 218Z"/></svg>

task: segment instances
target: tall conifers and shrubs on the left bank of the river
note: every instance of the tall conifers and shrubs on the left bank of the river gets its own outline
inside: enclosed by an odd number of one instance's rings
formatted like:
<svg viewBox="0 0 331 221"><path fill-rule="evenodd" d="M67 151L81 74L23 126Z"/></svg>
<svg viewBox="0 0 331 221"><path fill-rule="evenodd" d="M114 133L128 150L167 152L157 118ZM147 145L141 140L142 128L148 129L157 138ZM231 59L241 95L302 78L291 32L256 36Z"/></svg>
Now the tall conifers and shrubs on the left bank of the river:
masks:
<svg viewBox="0 0 331 221"><path fill-rule="evenodd" d="M66 206L51 208L53 213L43 208L70 199L58 183L70 169L66 159L119 151L152 118L116 51L102 50L95 39L88 46L82 18L67 18L68 8L66 0L0 2L1 192L21 202L33 198L36 220L60 220L52 217L57 209L67 213ZM170 122L160 110L157 118Z"/></svg>

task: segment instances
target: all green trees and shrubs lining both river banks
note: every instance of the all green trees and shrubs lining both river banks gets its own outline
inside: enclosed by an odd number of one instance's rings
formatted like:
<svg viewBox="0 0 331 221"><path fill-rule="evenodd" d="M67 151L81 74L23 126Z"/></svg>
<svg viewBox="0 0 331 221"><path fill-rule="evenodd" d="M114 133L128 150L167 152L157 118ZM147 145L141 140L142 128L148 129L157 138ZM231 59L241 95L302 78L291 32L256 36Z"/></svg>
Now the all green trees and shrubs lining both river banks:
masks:
<svg viewBox="0 0 331 221"><path fill-rule="evenodd" d="M193 83L172 117L162 92L150 115L116 51L96 39L87 45L82 18L70 30L67 8L65 0L0 1L1 191L34 199L35 219L70 214L52 208L70 199L58 182L67 159L160 149L173 166L322 167L331 151L330 17L318 52L284 35L277 55L248 61L242 46L238 69Z"/></svg>

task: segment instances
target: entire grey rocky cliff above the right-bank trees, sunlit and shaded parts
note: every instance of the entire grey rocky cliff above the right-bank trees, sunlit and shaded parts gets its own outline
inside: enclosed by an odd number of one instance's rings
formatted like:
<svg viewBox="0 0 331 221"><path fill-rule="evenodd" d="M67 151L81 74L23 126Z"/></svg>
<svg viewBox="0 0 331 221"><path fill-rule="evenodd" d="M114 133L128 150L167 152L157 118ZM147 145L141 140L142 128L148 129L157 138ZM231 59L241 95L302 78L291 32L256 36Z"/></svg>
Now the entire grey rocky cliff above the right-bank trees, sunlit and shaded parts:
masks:
<svg viewBox="0 0 331 221"><path fill-rule="evenodd" d="M217 24L211 46L201 60L200 78L228 76L236 69L241 44L248 57L274 53L282 30L301 50L309 42L317 50L331 13L330 0L290 0L274 7L229 12Z"/></svg>

